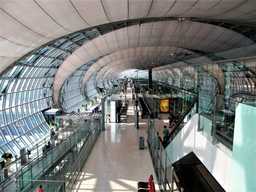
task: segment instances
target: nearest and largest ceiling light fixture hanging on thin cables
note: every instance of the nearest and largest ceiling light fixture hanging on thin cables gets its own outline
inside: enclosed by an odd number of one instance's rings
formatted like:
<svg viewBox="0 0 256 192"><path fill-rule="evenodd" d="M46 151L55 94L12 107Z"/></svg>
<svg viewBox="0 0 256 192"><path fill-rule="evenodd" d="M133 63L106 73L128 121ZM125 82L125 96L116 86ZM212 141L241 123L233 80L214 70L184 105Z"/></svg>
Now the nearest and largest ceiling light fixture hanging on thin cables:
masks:
<svg viewBox="0 0 256 192"><path fill-rule="evenodd" d="M184 48L182 48L185 46L185 51L187 50L186 42L185 42L184 26L183 26L183 20L185 20L185 18L178 18L178 20L180 20L180 22L179 22L180 23L180 32L179 32L179 37L178 37L178 43L177 43L177 48L176 48L175 52L172 52L171 55L172 56L188 56L188 55L191 55L192 53L183 52ZM184 45L183 45L183 38L184 38ZM179 42L180 42L180 52L178 52Z"/></svg>

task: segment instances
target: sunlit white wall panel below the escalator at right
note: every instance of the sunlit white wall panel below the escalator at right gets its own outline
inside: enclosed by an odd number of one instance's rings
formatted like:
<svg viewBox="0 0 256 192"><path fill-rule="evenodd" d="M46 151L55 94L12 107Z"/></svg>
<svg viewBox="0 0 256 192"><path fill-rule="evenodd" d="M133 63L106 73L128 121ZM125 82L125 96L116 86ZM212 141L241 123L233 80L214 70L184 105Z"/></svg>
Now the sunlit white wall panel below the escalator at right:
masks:
<svg viewBox="0 0 256 192"><path fill-rule="evenodd" d="M171 163L174 163L193 151L213 177L228 191L232 159L197 132L197 125L198 114L195 114L165 148L167 155Z"/></svg>

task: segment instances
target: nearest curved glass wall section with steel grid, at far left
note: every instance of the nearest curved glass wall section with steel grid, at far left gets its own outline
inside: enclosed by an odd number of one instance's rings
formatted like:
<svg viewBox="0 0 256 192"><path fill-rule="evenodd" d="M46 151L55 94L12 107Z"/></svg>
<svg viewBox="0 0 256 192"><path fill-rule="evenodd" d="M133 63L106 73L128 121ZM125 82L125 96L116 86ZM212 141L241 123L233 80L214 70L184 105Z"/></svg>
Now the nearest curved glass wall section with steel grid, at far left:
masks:
<svg viewBox="0 0 256 192"><path fill-rule="evenodd" d="M0 153L19 154L21 147L33 147L44 138L49 125L41 111L55 107L52 84L58 67L98 36L93 29L45 44L0 77Z"/></svg>

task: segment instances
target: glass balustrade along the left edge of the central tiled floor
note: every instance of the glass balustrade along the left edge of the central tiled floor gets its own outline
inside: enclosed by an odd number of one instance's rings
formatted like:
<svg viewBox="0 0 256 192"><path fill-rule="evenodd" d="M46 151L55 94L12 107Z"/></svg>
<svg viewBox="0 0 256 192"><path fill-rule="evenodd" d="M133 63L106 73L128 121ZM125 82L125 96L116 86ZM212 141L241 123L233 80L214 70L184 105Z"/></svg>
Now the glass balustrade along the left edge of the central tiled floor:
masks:
<svg viewBox="0 0 256 192"><path fill-rule="evenodd" d="M95 143L100 131L102 130L101 119L94 119L91 125L90 132L83 140L80 140L73 148L73 152L69 152L67 156L61 161L61 163L50 174L44 175L44 177L38 178L37 174L20 172L15 175L16 189L17 191L28 191L33 186L37 186L39 183L43 185L45 192L50 191L71 191L71 188L76 181L76 178L81 171L85 160L89 156L89 153ZM88 123L88 124L89 124ZM67 142L68 143L68 142ZM33 168L31 168L33 169ZM30 171L31 171L30 169ZM57 171L56 171L57 170ZM45 180L43 180L45 178Z"/></svg>

